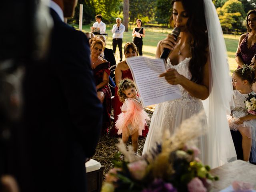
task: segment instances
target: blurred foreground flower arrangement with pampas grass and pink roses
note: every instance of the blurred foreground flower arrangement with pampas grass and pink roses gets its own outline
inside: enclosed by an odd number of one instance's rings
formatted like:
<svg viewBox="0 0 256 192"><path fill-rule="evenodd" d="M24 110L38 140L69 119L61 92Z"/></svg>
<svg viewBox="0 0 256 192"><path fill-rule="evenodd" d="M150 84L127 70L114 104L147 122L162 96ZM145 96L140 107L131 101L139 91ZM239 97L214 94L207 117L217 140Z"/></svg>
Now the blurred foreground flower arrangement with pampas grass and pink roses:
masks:
<svg viewBox="0 0 256 192"><path fill-rule="evenodd" d="M102 192L206 192L210 190L210 167L200 162L195 138L202 134L203 113L185 120L172 136L166 132L162 144L142 157L134 156L120 141L118 148L124 155L113 160L114 168L106 174Z"/></svg>

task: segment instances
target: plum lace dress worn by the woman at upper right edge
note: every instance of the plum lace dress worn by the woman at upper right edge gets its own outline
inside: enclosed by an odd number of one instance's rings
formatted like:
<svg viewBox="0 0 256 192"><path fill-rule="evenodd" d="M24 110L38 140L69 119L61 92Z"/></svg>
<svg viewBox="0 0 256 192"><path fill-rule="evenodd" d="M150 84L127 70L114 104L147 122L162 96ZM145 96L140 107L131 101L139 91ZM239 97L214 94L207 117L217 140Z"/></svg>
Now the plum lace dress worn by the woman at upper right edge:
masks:
<svg viewBox="0 0 256 192"><path fill-rule="evenodd" d="M238 56L243 60L244 64L250 65L253 56L256 54L256 43L254 43L254 45L248 49L247 39L248 33L240 43L239 50L241 53L238 53ZM238 66L238 68L240 67Z"/></svg>

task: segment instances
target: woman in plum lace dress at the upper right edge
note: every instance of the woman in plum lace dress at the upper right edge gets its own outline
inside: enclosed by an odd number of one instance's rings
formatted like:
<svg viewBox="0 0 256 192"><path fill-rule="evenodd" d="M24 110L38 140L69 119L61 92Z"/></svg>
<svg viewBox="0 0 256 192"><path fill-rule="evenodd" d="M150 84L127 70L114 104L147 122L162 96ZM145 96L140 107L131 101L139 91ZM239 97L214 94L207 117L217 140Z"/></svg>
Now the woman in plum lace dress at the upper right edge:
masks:
<svg viewBox="0 0 256 192"><path fill-rule="evenodd" d="M250 65L253 56L256 54L256 10L252 10L247 15L247 33L242 34L239 39L235 60L238 68L244 64Z"/></svg>

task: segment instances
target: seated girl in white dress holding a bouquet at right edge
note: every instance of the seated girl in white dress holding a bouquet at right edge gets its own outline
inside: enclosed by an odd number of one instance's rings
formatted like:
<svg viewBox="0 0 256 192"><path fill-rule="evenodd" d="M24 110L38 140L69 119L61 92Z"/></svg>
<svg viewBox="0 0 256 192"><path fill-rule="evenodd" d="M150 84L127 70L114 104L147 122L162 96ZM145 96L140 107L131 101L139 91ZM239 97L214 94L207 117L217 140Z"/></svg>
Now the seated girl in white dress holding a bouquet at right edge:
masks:
<svg viewBox="0 0 256 192"><path fill-rule="evenodd" d="M244 160L249 161L251 153L250 161L256 162L256 115L253 115L256 111L256 105L254 106L256 100L251 98L256 97L251 88L254 72L250 67L239 68L234 71L232 79L236 88L233 90L235 108L232 110L231 116L228 116L229 126L230 129L238 130L242 135ZM250 104L252 107L249 106Z"/></svg>

